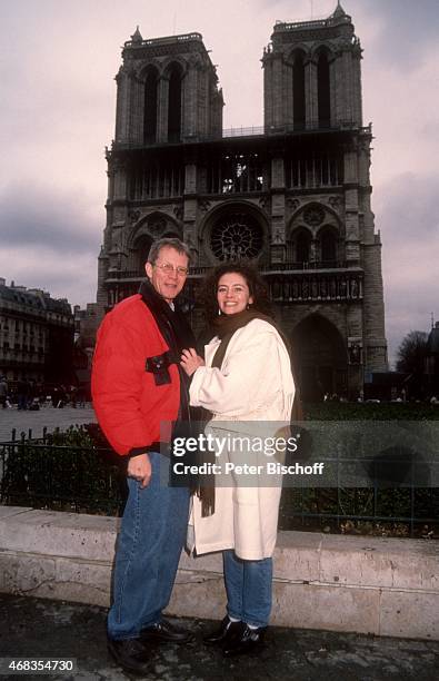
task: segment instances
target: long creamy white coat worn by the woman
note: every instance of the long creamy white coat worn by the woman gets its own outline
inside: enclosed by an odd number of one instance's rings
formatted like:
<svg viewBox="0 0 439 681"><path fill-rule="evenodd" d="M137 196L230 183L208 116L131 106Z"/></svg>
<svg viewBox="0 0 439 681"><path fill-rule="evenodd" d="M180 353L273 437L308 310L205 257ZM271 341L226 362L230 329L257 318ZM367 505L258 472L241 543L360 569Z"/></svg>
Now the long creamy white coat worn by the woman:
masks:
<svg viewBox="0 0 439 681"><path fill-rule="evenodd" d="M236 433L272 437L281 423L289 423L295 397L290 358L279 333L262 319L249 322L233 334L221 368L216 368L211 364L219 344L216 337L206 346L206 366L192 376L191 405L213 413L207 426L213 436ZM233 461L233 456L229 451L221 462ZM248 452L246 461L265 464L270 460ZM235 549L243 560L272 555L281 480L270 476L270 486L261 484L267 485L267 476L232 475L228 486L223 486L222 476L217 478L216 511L208 517L201 516L201 503L193 497L190 522L197 554Z"/></svg>

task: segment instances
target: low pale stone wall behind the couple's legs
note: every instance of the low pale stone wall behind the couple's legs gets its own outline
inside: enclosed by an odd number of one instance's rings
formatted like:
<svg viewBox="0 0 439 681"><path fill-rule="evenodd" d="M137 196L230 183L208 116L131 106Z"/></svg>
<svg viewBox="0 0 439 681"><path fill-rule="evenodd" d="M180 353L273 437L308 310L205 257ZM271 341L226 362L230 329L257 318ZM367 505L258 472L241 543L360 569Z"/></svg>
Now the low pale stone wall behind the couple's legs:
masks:
<svg viewBox="0 0 439 681"><path fill-rule="evenodd" d="M0 591L108 606L118 520L0 506ZM272 624L439 640L439 544L280 532ZM182 554L169 613L220 619L220 554Z"/></svg>

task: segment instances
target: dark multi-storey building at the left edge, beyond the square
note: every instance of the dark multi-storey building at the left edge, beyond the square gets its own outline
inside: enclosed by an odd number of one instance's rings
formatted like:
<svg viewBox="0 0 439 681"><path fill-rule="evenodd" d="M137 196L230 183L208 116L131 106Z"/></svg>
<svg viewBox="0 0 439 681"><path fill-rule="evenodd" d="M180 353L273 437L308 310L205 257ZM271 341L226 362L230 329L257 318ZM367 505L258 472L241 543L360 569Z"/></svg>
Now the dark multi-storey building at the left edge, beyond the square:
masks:
<svg viewBox="0 0 439 681"><path fill-rule="evenodd" d="M8 382L71 382L73 315L66 299L0 278L0 374Z"/></svg>

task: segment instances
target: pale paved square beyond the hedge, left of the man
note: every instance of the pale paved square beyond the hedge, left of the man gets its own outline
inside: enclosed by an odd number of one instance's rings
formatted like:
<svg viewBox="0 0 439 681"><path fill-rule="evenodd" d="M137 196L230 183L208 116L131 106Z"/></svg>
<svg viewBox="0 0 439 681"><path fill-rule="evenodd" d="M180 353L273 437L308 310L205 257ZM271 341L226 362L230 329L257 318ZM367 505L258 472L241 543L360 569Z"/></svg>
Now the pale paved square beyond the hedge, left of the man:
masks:
<svg viewBox="0 0 439 681"><path fill-rule="evenodd" d="M44 426L48 432L54 431L57 427L64 431L70 425L93 421L96 421L96 416L89 403L84 408L77 407L76 409L72 407L54 409L52 406L44 406L39 412L19 412L17 408L0 408L0 442L11 438L12 428L16 428L18 437L21 432L28 434L29 430L32 431L33 437L41 437Z"/></svg>

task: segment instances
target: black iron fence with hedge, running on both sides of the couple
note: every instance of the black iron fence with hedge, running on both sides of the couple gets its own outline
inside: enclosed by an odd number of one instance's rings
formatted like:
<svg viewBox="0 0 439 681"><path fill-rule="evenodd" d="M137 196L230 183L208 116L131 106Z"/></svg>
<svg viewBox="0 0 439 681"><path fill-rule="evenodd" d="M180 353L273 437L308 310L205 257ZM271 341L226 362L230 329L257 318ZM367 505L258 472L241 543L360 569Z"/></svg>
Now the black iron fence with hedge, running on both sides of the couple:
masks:
<svg viewBox="0 0 439 681"><path fill-rule="evenodd" d="M401 477L382 484L373 474L367 486L355 486L356 478L347 484L340 475L346 456L325 461L337 480L328 486L325 481L319 486L287 483L280 530L439 537L439 488L431 481L422 486L423 478L410 474L403 484ZM407 460L402 463L407 467ZM44 431L39 438L31 431L12 433L0 443L1 504L119 515L126 493L124 462L104 446L96 424L66 433Z"/></svg>

